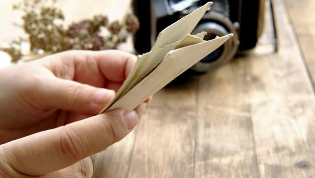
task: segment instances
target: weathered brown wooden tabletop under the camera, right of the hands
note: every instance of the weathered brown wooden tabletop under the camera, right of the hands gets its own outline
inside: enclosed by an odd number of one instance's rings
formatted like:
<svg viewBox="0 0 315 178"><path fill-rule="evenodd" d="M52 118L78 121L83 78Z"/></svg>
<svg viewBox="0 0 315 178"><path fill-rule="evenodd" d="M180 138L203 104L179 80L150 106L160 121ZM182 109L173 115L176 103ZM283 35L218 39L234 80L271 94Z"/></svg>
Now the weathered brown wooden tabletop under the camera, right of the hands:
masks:
<svg viewBox="0 0 315 178"><path fill-rule="evenodd" d="M274 2L277 53L267 13L253 51L155 94L94 177L314 178L315 1Z"/></svg>

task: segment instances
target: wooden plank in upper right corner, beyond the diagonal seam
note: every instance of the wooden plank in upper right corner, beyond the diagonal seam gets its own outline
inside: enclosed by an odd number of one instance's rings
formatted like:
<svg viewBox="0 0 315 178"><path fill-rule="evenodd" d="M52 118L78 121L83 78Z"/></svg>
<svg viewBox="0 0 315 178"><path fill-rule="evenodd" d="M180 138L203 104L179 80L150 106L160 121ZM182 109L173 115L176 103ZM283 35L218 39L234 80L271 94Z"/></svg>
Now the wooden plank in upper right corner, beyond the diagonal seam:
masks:
<svg viewBox="0 0 315 178"><path fill-rule="evenodd" d="M315 83L315 1L285 0L305 62Z"/></svg>

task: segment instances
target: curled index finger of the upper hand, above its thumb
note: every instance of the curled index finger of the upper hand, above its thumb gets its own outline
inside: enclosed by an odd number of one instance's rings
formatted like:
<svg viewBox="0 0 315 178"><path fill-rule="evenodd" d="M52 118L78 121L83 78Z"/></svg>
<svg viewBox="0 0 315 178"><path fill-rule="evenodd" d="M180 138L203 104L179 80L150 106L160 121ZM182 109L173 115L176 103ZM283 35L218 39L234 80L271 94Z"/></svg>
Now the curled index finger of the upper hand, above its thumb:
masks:
<svg viewBox="0 0 315 178"><path fill-rule="evenodd" d="M42 62L56 77L105 87L108 82L123 82L136 60L135 55L120 50L71 50L47 56Z"/></svg>

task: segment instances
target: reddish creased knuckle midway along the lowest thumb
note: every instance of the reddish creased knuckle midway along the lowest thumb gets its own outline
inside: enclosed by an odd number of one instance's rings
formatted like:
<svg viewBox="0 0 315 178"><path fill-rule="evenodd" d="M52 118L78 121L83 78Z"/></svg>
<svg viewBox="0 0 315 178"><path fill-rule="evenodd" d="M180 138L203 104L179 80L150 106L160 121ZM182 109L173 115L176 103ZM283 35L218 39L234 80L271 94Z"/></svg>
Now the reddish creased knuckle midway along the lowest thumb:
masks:
<svg viewBox="0 0 315 178"><path fill-rule="evenodd" d="M59 136L59 145L61 156L73 160L81 159L83 154L83 149L81 147L81 141L74 132L69 132L69 130L63 129L62 127Z"/></svg>

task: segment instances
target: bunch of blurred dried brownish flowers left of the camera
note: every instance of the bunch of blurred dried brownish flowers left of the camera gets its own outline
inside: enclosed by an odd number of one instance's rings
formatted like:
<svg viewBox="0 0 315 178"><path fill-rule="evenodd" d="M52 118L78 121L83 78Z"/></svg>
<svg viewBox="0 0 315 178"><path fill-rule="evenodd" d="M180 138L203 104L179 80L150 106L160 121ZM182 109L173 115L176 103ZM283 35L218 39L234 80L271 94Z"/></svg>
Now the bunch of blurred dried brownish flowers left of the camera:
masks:
<svg viewBox="0 0 315 178"><path fill-rule="evenodd" d="M104 50L117 48L126 41L129 33L136 33L139 21L133 14L128 14L125 21L108 23L105 15L95 15L92 19L84 19L72 23L68 28L62 24L65 16L56 7L58 0L23 0L13 5L13 9L22 10L24 15L23 29L28 35L30 50L34 56L51 54L68 49ZM110 34L101 36L101 29L107 28ZM14 45L13 45L14 44ZM12 42L10 47L0 48L7 52L13 61L24 54L20 42ZM30 56L30 54L26 54Z"/></svg>

